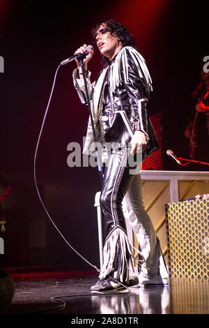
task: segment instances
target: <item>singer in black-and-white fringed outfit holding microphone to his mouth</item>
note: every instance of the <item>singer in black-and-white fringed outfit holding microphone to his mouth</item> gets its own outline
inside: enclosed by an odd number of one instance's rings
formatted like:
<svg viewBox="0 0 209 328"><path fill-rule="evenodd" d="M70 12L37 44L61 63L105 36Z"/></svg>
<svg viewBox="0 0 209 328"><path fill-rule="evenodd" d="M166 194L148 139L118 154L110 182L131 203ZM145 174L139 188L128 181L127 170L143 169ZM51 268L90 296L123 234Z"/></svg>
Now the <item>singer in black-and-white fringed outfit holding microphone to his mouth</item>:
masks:
<svg viewBox="0 0 209 328"><path fill-rule="evenodd" d="M97 142L102 143L106 164L100 197L104 222L104 264L99 281L91 287L91 292L125 292L123 285L130 285L132 250L127 239L125 216L139 241L142 258L139 286L167 285L168 274L160 243L144 209L140 174L130 174L128 161L130 156L137 156L140 151L144 159L157 149L147 110L152 91L150 74L132 34L120 22L107 20L98 23L93 29L93 38L103 61L103 69L95 82L91 83L91 73L87 68L93 57L92 49L83 62ZM79 47L75 54L85 51L86 44ZM80 100L86 103L79 61L73 71L73 81ZM92 142L89 120L84 154L91 154ZM111 149L108 149L110 142Z"/></svg>

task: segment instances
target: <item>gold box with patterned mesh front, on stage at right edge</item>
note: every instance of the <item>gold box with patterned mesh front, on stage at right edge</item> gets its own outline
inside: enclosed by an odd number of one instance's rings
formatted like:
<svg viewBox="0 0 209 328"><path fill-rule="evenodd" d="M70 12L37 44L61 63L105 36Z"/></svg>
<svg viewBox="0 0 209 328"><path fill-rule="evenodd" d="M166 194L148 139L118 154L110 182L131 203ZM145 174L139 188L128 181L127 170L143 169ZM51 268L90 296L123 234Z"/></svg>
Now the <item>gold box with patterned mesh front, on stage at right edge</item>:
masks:
<svg viewBox="0 0 209 328"><path fill-rule="evenodd" d="M209 200L167 204L169 273L179 277L209 274Z"/></svg>

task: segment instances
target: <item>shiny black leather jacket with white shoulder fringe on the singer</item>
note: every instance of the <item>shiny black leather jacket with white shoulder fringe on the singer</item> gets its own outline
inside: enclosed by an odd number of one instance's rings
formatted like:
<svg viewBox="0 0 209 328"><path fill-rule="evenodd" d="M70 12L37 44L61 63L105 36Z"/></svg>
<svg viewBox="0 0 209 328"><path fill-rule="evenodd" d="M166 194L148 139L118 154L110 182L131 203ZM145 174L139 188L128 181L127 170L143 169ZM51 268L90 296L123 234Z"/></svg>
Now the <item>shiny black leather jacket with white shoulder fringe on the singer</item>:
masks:
<svg viewBox="0 0 209 328"><path fill-rule="evenodd" d="M106 69L103 86L97 110L100 124L95 121L95 128L100 128L97 135L101 135L102 144L111 144L115 149L127 147L134 131L141 130L148 141L146 156L150 156L158 148L147 112L152 86L146 63L139 52L132 47L123 47ZM75 87L78 90L76 83ZM91 99L93 91L94 87Z"/></svg>

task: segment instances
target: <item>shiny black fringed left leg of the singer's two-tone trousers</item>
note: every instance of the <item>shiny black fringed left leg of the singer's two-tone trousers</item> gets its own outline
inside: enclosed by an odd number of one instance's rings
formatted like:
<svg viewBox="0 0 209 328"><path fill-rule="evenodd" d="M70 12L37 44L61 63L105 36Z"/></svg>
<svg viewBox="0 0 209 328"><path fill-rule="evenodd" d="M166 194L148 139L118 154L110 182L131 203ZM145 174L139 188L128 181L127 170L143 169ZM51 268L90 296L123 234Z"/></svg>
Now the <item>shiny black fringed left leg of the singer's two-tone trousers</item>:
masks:
<svg viewBox="0 0 209 328"><path fill-rule="evenodd" d="M104 240L104 264L100 278L112 276L123 282L128 281L132 253L122 208L123 197L134 179L134 174L130 174L129 163L127 148L109 154L100 195Z"/></svg>

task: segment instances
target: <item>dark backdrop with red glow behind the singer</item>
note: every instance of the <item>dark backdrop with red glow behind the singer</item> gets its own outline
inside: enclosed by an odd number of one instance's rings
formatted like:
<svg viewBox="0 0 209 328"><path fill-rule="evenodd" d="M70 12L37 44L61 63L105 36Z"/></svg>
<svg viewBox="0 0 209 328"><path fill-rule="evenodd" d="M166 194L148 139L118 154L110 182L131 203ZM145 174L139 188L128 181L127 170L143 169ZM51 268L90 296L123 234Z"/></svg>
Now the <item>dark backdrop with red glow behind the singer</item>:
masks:
<svg viewBox="0 0 209 328"><path fill-rule="evenodd" d="M40 126L59 63L83 43L93 44L91 29L109 18L129 29L153 79L150 114L162 113L164 170L182 170L165 155L172 149L187 158L184 131L194 117L192 91L200 82L208 52L206 1L1 1L0 55L0 185L12 186L0 202L0 231L5 244L0 267L69 266L91 269L65 244L38 200L33 158ZM99 264L95 193L98 172L68 167L67 145L86 133L88 108L72 85L72 62L59 69L40 140L36 165L43 200L54 223L77 251ZM96 51L90 62L92 80L100 70ZM206 145L208 149L208 145ZM208 150L207 150L208 151ZM203 158L199 158L203 161ZM206 170L188 166L185 170Z"/></svg>

